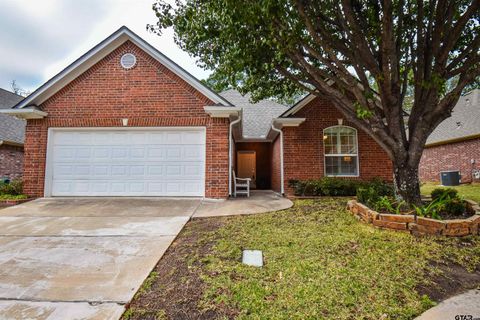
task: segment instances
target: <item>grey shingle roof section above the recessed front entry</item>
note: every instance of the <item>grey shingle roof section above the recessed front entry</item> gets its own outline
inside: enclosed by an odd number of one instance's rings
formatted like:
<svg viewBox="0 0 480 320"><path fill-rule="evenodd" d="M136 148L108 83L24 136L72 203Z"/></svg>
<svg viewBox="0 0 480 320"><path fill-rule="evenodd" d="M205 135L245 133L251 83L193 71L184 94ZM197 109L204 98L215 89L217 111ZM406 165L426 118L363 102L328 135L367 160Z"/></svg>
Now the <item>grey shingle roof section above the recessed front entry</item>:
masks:
<svg viewBox="0 0 480 320"><path fill-rule="evenodd" d="M265 138L272 120L284 113L288 107L272 100L261 100L257 103L250 102L250 94L242 96L234 89L220 93L236 107L242 107L243 137L247 139Z"/></svg>

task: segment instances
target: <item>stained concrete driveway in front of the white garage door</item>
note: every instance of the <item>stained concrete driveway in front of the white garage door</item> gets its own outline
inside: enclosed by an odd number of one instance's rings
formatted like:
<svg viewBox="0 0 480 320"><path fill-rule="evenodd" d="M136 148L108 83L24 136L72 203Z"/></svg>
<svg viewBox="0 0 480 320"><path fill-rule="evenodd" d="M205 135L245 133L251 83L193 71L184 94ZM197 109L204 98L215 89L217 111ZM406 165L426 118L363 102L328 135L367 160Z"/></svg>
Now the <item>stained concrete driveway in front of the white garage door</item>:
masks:
<svg viewBox="0 0 480 320"><path fill-rule="evenodd" d="M39 199L0 210L0 319L118 319L200 199Z"/></svg>

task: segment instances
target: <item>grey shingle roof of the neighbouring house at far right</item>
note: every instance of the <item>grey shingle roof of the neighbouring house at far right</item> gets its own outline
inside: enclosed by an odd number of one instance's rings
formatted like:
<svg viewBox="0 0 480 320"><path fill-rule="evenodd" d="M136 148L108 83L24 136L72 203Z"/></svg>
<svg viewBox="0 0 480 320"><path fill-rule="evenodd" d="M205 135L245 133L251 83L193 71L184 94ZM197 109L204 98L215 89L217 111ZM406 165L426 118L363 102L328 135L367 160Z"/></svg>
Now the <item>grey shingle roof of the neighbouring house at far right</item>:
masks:
<svg viewBox="0 0 480 320"><path fill-rule="evenodd" d="M430 134L428 144L461 139L480 134L480 89L460 97L452 116Z"/></svg>

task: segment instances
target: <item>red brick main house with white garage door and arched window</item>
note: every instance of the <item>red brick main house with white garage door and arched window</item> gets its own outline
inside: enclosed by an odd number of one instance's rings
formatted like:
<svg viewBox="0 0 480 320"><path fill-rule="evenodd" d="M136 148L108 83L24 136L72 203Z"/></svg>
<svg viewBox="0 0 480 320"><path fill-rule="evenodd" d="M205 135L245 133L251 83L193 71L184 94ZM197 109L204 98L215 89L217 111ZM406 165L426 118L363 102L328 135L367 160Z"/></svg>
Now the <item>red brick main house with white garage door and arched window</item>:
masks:
<svg viewBox="0 0 480 320"><path fill-rule="evenodd" d="M287 109L217 94L126 27L8 113L27 119L31 196L226 198L233 170L282 193L289 179L392 177L385 152L328 100Z"/></svg>

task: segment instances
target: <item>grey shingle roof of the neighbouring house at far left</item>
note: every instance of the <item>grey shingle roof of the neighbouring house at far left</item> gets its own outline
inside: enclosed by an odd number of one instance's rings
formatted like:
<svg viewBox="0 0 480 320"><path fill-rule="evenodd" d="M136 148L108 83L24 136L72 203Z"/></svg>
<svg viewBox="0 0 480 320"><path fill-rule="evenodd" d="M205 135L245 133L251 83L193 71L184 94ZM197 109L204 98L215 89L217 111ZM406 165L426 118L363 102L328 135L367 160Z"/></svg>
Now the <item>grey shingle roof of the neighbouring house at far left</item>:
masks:
<svg viewBox="0 0 480 320"><path fill-rule="evenodd" d="M22 96L0 88L0 109L9 109L21 100L23 100ZM0 114L0 141L23 144L25 124L25 120Z"/></svg>

